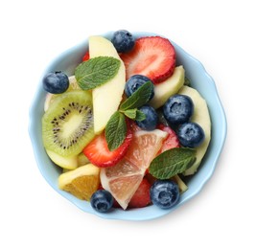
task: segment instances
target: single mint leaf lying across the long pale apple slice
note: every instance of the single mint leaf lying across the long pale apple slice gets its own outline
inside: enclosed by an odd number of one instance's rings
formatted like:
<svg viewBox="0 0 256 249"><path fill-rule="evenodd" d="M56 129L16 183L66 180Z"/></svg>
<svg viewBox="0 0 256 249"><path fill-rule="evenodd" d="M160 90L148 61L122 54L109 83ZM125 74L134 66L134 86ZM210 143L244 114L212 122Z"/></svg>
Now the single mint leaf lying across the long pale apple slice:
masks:
<svg viewBox="0 0 256 249"><path fill-rule="evenodd" d="M120 64L120 60L114 57L90 58L76 68L75 77L81 89L93 89L114 78Z"/></svg>

